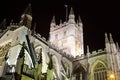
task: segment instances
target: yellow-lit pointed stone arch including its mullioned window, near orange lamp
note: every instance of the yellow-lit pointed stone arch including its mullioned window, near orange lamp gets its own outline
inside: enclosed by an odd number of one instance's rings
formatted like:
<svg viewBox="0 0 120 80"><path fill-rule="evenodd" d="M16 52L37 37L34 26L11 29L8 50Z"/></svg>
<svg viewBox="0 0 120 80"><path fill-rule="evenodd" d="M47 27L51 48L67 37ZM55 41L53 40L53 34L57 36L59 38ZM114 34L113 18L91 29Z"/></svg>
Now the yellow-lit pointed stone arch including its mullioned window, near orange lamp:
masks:
<svg viewBox="0 0 120 80"><path fill-rule="evenodd" d="M91 66L91 79L92 80L107 80L107 66L103 61L97 60Z"/></svg>

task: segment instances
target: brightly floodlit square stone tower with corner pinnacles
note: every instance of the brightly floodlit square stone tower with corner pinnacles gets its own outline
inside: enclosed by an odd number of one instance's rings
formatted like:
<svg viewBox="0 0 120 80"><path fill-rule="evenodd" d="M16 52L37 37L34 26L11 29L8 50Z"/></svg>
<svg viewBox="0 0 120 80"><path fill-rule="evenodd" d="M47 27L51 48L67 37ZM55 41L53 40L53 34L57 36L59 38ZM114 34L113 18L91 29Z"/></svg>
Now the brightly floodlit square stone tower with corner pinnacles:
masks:
<svg viewBox="0 0 120 80"><path fill-rule="evenodd" d="M55 17L50 24L49 41L58 47L60 50L73 57L84 54L83 49L83 24L80 16L78 22L75 22L73 8L69 13L68 21L57 25Z"/></svg>

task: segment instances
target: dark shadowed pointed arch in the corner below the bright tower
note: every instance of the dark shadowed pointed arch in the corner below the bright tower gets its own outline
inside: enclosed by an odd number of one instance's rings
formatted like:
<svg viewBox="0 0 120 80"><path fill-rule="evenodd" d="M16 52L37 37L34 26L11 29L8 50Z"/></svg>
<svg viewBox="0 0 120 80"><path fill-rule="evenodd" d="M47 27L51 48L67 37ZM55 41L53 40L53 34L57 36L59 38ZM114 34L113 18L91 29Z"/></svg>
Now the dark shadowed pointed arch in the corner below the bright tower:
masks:
<svg viewBox="0 0 120 80"><path fill-rule="evenodd" d="M72 72L75 80L86 80L86 68L82 64L77 64Z"/></svg>

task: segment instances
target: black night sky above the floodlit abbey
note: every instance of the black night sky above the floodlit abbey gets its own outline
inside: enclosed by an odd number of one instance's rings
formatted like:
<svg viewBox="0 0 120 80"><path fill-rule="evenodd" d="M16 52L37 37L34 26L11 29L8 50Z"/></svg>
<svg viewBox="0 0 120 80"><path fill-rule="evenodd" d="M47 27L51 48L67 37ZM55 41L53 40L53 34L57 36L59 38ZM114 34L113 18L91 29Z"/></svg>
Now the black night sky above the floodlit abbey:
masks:
<svg viewBox="0 0 120 80"><path fill-rule="evenodd" d="M90 51L104 48L104 33L112 33L114 41L120 43L120 5L110 0L1 0L0 21L7 19L7 24L14 20L19 22L21 14L28 3L32 5L33 23L37 23L36 31L48 39L49 24L56 16L56 22L65 21L66 8L68 13L73 7L76 15L81 16L84 29L84 43Z"/></svg>

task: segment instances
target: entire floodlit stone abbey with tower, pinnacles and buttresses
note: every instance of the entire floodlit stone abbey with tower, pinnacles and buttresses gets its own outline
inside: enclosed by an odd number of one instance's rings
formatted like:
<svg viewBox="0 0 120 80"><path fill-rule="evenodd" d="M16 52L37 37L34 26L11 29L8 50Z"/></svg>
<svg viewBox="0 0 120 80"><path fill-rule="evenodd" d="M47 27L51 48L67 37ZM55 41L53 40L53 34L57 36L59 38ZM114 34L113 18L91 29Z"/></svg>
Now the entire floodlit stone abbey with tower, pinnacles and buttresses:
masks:
<svg viewBox="0 0 120 80"><path fill-rule="evenodd" d="M31 5L19 23L0 22L0 80L120 80L120 48L111 33L105 33L105 48L84 51L83 24L68 20L50 23L49 39L32 26ZM33 29L31 29L33 27Z"/></svg>

